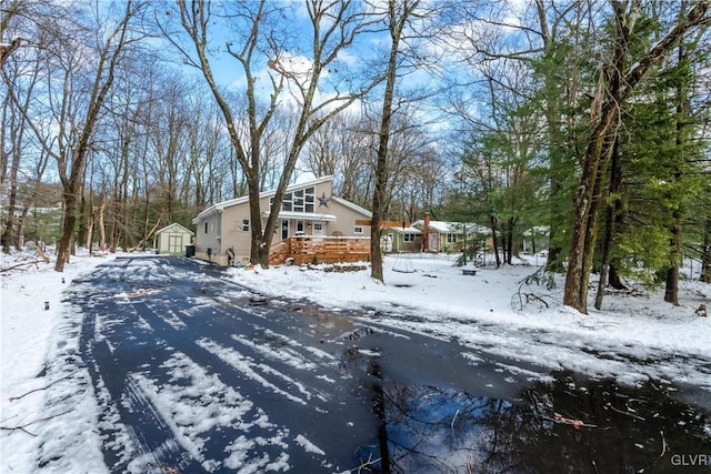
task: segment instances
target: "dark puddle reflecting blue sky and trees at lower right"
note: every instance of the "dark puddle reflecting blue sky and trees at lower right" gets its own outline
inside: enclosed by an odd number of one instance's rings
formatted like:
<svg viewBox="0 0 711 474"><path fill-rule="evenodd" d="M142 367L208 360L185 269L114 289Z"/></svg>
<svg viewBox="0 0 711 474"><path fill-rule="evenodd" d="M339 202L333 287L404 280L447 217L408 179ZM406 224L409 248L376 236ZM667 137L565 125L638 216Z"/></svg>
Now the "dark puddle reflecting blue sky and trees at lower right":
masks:
<svg viewBox="0 0 711 474"><path fill-rule="evenodd" d="M370 373L382 377L371 364ZM513 401L454 389L371 384L382 473L709 472L709 413L670 387L640 389L555 373ZM362 456L363 462L368 460Z"/></svg>

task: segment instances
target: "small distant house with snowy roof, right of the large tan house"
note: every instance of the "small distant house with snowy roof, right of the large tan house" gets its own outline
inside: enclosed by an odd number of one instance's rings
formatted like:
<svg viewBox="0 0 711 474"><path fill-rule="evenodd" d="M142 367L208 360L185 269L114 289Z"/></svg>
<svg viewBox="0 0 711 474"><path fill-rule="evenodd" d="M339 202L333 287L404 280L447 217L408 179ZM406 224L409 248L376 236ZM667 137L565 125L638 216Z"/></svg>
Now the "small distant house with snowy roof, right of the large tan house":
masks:
<svg viewBox="0 0 711 474"><path fill-rule="evenodd" d="M423 220L412 223L422 231L422 242L427 243L425 252L461 252L472 241L488 242L491 231L471 222L430 221L429 214Z"/></svg>

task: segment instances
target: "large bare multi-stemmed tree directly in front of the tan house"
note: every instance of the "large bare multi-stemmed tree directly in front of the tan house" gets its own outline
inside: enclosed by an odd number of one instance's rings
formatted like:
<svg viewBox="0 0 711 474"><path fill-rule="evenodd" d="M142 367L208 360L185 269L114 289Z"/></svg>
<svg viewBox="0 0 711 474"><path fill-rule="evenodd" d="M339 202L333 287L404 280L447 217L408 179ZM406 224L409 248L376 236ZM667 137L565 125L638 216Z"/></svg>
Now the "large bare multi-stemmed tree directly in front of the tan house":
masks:
<svg viewBox="0 0 711 474"><path fill-rule="evenodd" d="M212 16L212 9L218 8L213 3L178 2L180 24L188 34L194 53L190 53L178 41L171 41L183 53L184 61L202 72L224 118L234 158L247 179L252 243L250 260L254 263L268 265L271 235L276 230L286 188L309 138L379 81L379 78L374 78L357 85L357 77L348 74L348 64L339 59L339 54L372 24L370 16L359 10L359 6L350 1L307 1L306 12L310 28L308 36L311 39L307 46L294 42L292 26L284 23L288 18L282 11L287 8L284 4L267 1L226 3L219 14ZM227 54L241 68L246 109L237 109L229 103L226 88L213 72L214 59L210 57L211 44L208 38L217 28L213 24L218 19L231 23L234 34L243 32L241 37L227 40L219 48L224 48ZM290 48L293 51L307 50L308 57L297 56ZM260 71L264 71L264 80L261 80ZM327 77L331 81L328 85ZM269 88L269 98L263 102L259 95L260 84L268 84ZM329 88L329 95L321 92L326 87ZM284 100L284 92L289 93L288 100ZM282 100L290 104L297 120L286 147L283 170L273 204L266 224L262 225L259 209L261 152L269 124ZM249 122L247 138L241 137L236 128L239 117Z"/></svg>

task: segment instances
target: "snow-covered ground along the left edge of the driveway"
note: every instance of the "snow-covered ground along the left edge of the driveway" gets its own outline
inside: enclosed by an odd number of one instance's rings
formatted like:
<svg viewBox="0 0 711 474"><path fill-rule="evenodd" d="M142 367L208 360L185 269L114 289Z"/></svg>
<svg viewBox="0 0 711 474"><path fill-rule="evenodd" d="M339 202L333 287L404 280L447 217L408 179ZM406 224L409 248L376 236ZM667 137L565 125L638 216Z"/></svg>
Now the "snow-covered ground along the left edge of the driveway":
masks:
<svg viewBox="0 0 711 474"><path fill-rule="evenodd" d="M51 255L50 255L51 256ZM81 327L62 327L63 315L69 306L62 303L62 292L71 281L80 274L114 259L116 255L101 254L89 258L87 254L73 258L63 273L54 272L54 262L39 262L21 265L0 274L0 361L2 361L0 379L0 472L31 472L41 446L38 431L58 434L57 442L81 433L82 427L92 423L97 416L93 397L87 396L77 402L72 413L74 426L68 430L62 426L64 420L52 416L51 401L47 397L50 384L58 389L59 396L71 397L78 385L88 383L84 374L47 374L46 369L57 357L60 349L67 345L79 345ZM2 255L0 268L8 269L23 262L38 260L33 252ZM49 307L49 309L46 309ZM67 334L67 331L70 334ZM48 418L49 420L44 420ZM21 426L22 433L9 428ZM64 443L64 445L67 445ZM78 465L87 472L102 472L101 451L97 436L84 436L70 444L76 452Z"/></svg>

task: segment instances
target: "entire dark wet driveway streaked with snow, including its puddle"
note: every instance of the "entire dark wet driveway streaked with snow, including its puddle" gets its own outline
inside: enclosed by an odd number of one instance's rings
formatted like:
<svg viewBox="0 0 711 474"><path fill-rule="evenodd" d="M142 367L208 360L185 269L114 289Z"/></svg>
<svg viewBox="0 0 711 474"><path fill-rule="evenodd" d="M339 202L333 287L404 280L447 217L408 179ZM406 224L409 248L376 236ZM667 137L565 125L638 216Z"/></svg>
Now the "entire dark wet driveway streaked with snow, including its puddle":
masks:
<svg viewBox="0 0 711 474"><path fill-rule="evenodd" d="M619 472L709 451L709 413L658 381L548 373L423 334L424 315L257 290L182 258L74 280L29 428L37 471Z"/></svg>

